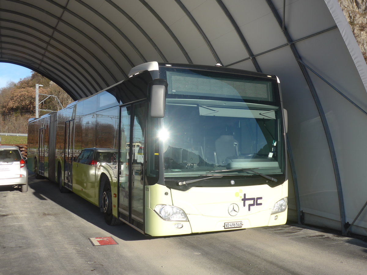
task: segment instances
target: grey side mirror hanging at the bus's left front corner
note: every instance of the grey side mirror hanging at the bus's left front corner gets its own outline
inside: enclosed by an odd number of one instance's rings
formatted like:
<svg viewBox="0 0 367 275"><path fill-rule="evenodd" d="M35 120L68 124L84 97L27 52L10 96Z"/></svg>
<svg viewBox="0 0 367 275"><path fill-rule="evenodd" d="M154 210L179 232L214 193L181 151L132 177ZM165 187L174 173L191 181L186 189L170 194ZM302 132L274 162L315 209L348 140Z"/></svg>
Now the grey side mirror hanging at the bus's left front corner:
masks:
<svg viewBox="0 0 367 275"><path fill-rule="evenodd" d="M161 78L153 80L150 93L150 116L164 117L166 104L167 81Z"/></svg>

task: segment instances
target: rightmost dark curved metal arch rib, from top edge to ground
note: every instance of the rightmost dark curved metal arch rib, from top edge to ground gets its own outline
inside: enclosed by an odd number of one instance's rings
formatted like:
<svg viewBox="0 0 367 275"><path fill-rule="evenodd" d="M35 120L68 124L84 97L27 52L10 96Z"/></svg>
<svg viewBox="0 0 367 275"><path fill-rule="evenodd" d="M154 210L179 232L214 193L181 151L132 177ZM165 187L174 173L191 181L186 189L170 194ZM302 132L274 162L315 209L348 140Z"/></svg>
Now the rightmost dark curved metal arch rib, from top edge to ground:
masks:
<svg viewBox="0 0 367 275"><path fill-rule="evenodd" d="M327 122L323 107L321 105L319 96L317 95L315 86L313 85L313 82L312 82L312 80L309 76L307 68L302 62L300 62L300 60L302 60L302 58L299 55L298 50L297 50L294 42L292 41L292 38L291 38L290 34L288 33L287 28L286 28L283 20L280 18L280 15L278 14L278 12L276 10L276 7L274 6L272 0L265 0L265 1L269 6L270 11L274 15L281 31L283 32L283 35L286 38L286 41L287 41L287 43L288 43L288 45L289 45L289 47L292 51L292 54L294 55L295 59L297 60L298 66L301 69L301 72L302 72L303 76L305 77L306 83L307 83L307 85L310 89L310 92L311 92L311 95L312 95L313 100L315 102L317 111L319 112L321 123L322 123L323 128L324 128L326 140L327 140L330 155L331 155L331 161L333 163L335 181L336 181L336 186L337 186L337 191L338 191L339 212L340 212L340 218L341 218L341 231L342 231L342 234L345 235L344 225L346 224L346 217L345 217L345 206L344 206L341 178L340 178L337 155L336 155L336 152L335 152L333 139L331 137L330 128L328 126L328 122Z"/></svg>

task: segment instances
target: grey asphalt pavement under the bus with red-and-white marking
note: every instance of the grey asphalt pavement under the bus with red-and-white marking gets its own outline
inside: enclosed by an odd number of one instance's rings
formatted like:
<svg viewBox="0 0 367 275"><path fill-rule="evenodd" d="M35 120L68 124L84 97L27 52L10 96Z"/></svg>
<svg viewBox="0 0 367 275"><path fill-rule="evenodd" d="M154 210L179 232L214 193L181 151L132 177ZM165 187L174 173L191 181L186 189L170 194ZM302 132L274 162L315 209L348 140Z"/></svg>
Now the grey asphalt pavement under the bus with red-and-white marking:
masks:
<svg viewBox="0 0 367 275"><path fill-rule="evenodd" d="M32 175L27 193L0 187L0 255L0 275L367 274L360 239L294 224L153 238Z"/></svg>

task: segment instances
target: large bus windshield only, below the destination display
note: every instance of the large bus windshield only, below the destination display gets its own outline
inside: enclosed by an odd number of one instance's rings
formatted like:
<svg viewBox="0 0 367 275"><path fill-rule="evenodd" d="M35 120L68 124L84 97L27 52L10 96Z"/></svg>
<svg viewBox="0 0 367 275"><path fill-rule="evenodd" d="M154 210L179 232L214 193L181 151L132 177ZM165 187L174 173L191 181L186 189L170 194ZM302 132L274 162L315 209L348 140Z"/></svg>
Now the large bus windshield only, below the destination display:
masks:
<svg viewBox="0 0 367 275"><path fill-rule="evenodd" d="M280 118L276 106L167 99L160 133L165 177L241 168L283 173Z"/></svg>

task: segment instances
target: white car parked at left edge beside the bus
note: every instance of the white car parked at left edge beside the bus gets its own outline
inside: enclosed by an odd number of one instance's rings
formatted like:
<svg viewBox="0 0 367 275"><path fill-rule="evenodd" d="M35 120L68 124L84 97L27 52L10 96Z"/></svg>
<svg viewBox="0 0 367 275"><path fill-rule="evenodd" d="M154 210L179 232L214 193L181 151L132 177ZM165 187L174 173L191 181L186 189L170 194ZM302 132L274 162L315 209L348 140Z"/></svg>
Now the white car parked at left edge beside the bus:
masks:
<svg viewBox="0 0 367 275"><path fill-rule="evenodd" d="M26 159L17 146L0 146L0 186L21 187L28 191Z"/></svg>

